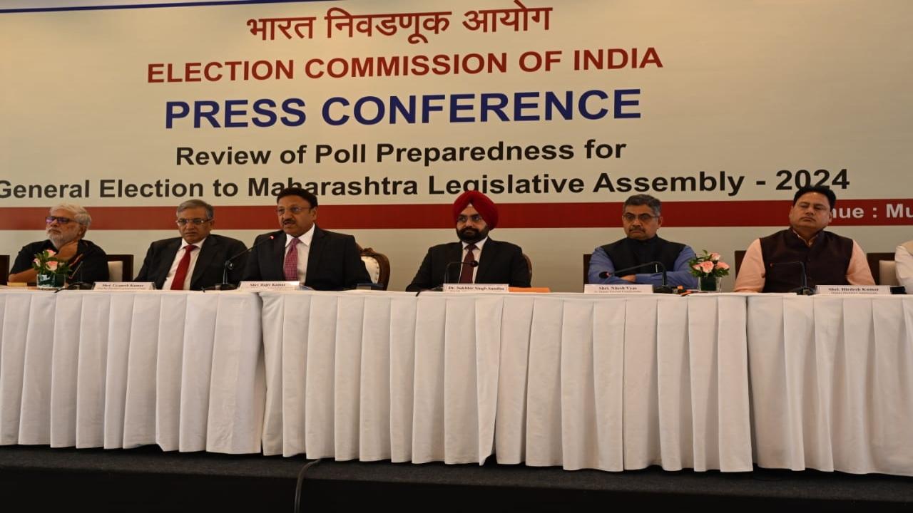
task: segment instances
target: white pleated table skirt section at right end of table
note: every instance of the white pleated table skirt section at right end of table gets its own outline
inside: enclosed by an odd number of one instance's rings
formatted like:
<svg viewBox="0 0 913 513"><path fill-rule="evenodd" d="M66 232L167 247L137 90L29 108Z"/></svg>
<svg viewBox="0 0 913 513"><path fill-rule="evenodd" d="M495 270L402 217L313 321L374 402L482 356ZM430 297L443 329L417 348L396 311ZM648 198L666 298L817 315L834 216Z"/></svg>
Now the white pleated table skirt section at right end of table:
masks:
<svg viewBox="0 0 913 513"><path fill-rule="evenodd" d="M913 298L749 298L755 461L913 476Z"/></svg>

